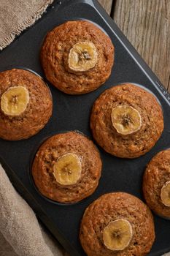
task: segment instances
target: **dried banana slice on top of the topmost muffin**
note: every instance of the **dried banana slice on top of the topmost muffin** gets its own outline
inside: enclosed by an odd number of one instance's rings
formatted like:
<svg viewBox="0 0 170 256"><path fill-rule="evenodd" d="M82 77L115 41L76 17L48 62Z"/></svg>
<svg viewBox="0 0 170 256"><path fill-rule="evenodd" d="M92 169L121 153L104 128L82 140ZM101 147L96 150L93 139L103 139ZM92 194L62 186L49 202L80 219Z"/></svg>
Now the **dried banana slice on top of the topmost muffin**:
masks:
<svg viewBox="0 0 170 256"><path fill-rule="evenodd" d="M98 53L93 42L77 42L69 52L69 68L77 71L88 71L95 67Z"/></svg>

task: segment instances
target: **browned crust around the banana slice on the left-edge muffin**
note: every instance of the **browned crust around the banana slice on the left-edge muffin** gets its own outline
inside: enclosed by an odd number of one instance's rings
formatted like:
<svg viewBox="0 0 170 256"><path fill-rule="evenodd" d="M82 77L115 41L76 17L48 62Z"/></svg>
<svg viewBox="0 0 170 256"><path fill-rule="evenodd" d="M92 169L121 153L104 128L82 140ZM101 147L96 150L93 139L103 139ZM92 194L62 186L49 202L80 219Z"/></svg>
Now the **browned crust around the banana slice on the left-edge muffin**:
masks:
<svg viewBox="0 0 170 256"><path fill-rule="evenodd" d="M34 73L23 69L10 69L0 73L0 98L9 87L25 86L29 91L29 103L21 116L4 115L0 107L0 138L22 140L45 127L52 115L53 102L45 82Z"/></svg>

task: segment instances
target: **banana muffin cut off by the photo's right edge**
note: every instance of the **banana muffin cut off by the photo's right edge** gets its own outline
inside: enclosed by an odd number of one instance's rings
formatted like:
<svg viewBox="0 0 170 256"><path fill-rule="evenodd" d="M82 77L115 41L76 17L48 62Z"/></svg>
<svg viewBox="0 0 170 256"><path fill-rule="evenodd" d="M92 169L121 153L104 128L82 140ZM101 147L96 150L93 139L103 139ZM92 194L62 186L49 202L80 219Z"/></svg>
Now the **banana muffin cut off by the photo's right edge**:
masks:
<svg viewBox="0 0 170 256"><path fill-rule="evenodd" d="M170 219L170 149L156 154L147 165L143 192L152 211Z"/></svg>

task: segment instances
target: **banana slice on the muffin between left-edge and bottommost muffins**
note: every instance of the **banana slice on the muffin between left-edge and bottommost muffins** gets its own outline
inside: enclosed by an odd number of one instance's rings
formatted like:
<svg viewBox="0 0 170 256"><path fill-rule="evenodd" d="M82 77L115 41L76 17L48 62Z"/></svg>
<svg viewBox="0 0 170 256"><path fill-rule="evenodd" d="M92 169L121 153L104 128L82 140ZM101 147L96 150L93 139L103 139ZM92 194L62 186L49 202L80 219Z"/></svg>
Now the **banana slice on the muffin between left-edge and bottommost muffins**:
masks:
<svg viewBox="0 0 170 256"><path fill-rule="evenodd" d="M58 157L53 167L56 181L61 185L73 185L80 179L82 165L76 154L68 153Z"/></svg>

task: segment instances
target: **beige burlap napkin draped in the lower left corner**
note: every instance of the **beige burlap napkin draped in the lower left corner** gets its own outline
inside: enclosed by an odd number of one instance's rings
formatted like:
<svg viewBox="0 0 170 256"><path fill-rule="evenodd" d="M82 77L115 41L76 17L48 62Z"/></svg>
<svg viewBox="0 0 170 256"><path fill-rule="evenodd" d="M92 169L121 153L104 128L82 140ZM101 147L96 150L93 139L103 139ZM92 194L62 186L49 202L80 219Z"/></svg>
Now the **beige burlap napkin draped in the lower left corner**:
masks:
<svg viewBox="0 0 170 256"><path fill-rule="evenodd" d="M0 255L63 256L62 251L40 227L34 211L12 187L0 165Z"/></svg>

